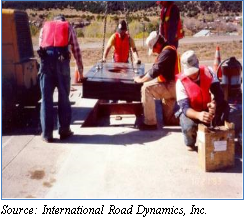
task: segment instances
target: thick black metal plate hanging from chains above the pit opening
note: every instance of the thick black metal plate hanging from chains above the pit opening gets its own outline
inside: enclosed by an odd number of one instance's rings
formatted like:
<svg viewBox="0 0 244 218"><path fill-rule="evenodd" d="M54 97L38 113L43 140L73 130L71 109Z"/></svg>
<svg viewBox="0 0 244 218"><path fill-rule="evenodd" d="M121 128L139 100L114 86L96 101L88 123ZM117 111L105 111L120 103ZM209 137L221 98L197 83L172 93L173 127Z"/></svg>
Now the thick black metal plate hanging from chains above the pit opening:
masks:
<svg viewBox="0 0 244 218"><path fill-rule="evenodd" d="M83 83L83 98L140 101L141 86L134 82L134 77L144 75L144 64L136 65L133 72L129 63L97 64L86 74Z"/></svg>

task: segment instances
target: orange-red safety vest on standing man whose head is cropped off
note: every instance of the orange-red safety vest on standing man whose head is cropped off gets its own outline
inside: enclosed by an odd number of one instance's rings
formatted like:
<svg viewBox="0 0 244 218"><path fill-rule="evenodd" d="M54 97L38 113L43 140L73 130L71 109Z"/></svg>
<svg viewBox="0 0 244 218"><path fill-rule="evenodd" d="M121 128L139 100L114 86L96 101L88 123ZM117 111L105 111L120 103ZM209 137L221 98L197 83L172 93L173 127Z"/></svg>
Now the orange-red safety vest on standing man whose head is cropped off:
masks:
<svg viewBox="0 0 244 218"><path fill-rule="evenodd" d="M161 28L163 28L164 37L166 38L166 40L168 40L169 19L170 19L170 12L171 12L173 5L174 4L169 5L169 7L166 9L165 15L164 15L164 8L162 8L162 12L161 12L161 22L162 22ZM178 41L179 39L182 39L183 37L184 37L184 30L182 27L181 19L179 18L178 24L177 24L177 31L176 31L176 35L175 35L175 40Z"/></svg>

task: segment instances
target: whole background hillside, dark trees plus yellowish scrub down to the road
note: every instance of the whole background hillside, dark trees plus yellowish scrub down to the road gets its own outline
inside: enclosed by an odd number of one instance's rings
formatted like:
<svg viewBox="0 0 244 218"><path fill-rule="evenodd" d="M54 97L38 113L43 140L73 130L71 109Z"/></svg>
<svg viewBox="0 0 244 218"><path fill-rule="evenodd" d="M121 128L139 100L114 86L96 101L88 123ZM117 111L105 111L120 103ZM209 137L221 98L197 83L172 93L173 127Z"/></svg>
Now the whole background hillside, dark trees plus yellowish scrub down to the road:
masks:
<svg viewBox="0 0 244 218"><path fill-rule="evenodd" d="M185 36L192 36L202 29L212 34L243 32L242 1L177 1ZM103 18L108 6L106 36L109 37L125 19L125 9L129 10L127 22L134 38L146 37L158 29L160 7L155 1L5 1L3 8L26 10L29 15L32 36L38 34L43 22L58 14L64 14L77 31L78 37L103 37ZM237 17L238 20L237 20Z"/></svg>

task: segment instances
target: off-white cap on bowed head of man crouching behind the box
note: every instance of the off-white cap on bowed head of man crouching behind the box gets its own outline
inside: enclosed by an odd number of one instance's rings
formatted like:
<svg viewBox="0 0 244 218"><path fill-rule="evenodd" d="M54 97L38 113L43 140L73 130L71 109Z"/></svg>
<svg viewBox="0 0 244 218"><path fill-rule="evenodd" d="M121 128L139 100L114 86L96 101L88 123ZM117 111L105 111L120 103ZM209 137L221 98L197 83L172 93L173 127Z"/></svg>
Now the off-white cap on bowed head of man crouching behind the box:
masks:
<svg viewBox="0 0 244 218"><path fill-rule="evenodd" d="M188 50L181 56L181 65L183 73L186 76L191 76L199 70L199 60L194 51Z"/></svg>

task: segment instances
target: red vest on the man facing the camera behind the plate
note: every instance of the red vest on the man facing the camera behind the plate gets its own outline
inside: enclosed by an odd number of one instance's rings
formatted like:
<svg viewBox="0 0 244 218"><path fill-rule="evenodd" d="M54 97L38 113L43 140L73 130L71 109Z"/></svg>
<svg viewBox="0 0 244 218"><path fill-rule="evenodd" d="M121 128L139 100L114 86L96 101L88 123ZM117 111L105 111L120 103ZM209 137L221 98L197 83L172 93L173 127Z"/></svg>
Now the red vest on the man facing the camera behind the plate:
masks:
<svg viewBox="0 0 244 218"><path fill-rule="evenodd" d="M119 33L115 33L115 45L114 45L114 61L115 62L128 62L129 58L129 35L126 34L125 38L122 40Z"/></svg>

